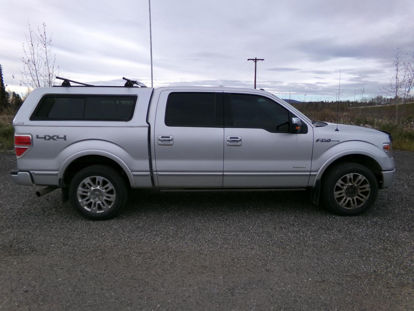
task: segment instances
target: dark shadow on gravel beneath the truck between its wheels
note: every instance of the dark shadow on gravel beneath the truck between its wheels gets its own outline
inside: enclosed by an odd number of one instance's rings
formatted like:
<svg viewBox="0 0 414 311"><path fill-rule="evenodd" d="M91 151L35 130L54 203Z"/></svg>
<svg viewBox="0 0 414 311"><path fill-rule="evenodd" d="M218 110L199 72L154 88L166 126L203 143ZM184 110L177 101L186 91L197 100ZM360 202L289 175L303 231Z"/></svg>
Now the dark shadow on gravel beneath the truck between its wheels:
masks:
<svg viewBox="0 0 414 311"><path fill-rule="evenodd" d="M157 190L132 190L122 211L124 216L133 214L235 211L308 211L325 212L310 202L307 191L277 192L159 192Z"/></svg>

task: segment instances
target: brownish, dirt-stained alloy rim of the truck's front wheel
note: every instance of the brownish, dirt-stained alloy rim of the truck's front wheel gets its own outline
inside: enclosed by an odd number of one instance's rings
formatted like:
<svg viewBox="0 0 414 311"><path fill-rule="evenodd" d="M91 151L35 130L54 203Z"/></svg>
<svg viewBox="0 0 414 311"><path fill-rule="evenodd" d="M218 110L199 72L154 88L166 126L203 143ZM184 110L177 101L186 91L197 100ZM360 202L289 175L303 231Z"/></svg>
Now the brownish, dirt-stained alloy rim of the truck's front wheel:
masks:
<svg viewBox="0 0 414 311"><path fill-rule="evenodd" d="M335 201L346 209L361 207L371 193L368 180L361 174L350 173L342 176L334 188Z"/></svg>

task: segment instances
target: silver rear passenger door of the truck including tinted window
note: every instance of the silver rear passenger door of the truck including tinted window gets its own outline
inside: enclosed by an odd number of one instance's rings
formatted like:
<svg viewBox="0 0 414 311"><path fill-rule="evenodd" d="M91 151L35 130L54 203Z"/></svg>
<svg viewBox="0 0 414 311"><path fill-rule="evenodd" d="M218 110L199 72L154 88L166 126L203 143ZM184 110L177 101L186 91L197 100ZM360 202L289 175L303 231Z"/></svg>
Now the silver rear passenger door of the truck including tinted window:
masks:
<svg viewBox="0 0 414 311"><path fill-rule="evenodd" d="M223 92L161 92L154 130L159 187L223 187Z"/></svg>

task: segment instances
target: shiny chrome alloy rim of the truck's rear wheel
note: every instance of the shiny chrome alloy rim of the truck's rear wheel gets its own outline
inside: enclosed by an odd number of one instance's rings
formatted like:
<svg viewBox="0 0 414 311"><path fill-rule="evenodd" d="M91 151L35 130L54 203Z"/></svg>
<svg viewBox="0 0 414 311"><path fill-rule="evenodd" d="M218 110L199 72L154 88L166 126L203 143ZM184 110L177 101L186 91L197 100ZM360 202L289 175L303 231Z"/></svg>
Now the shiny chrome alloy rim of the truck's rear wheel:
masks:
<svg viewBox="0 0 414 311"><path fill-rule="evenodd" d="M115 203L115 189L111 182L101 176L87 177L79 184L79 204L91 213L102 213Z"/></svg>

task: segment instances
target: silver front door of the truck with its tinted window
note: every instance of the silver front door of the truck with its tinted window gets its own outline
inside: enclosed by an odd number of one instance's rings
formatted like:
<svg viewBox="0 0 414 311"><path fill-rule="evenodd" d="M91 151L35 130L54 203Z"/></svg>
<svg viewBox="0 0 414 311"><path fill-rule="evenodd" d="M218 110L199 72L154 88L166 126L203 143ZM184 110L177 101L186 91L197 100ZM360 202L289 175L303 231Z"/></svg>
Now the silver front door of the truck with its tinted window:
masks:
<svg viewBox="0 0 414 311"><path fill-rule="evenodd" d="M290 134L291 117L270 97L224 93L224 188L308 185L313 130Z"/></svg>

